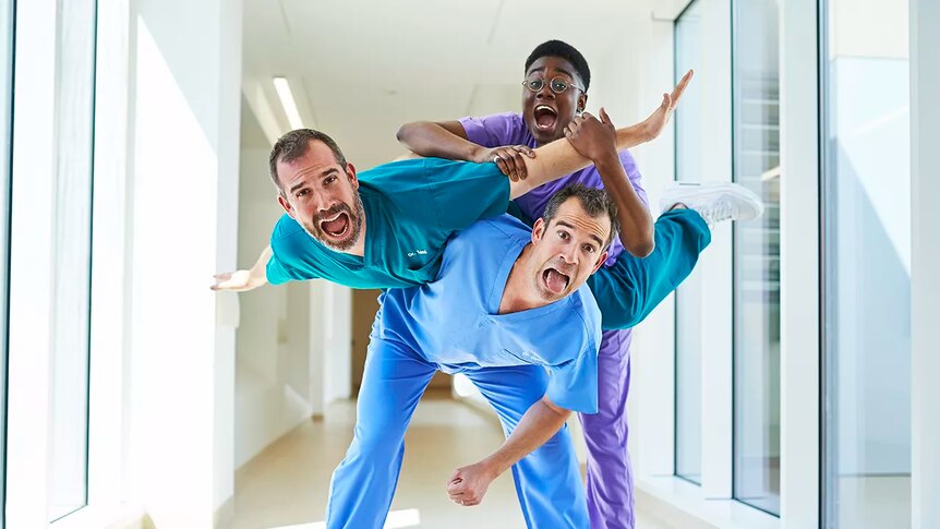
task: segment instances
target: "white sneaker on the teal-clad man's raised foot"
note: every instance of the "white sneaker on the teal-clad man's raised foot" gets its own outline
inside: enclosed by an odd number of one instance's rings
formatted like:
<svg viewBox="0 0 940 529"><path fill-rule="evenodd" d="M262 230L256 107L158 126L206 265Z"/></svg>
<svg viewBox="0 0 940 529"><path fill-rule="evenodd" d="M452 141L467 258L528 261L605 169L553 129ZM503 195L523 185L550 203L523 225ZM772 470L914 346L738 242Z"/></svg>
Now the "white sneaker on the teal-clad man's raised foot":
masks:
<svg viewBox="0 0 940 529"><path fill-rule="evenodd" d="M751 220L763 215L763 202L752 191L737 183L677 183L663 194L663 212L676 204L695 209L714 226L722 220Z"/></svg>

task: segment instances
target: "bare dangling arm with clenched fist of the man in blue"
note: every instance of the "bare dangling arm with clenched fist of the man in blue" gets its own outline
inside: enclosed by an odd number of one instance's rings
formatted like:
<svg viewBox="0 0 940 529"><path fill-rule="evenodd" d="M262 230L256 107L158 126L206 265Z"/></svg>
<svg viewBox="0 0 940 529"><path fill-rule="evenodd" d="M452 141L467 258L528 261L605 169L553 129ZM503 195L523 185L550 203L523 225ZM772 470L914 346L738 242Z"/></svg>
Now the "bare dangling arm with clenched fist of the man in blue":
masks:
<svg viewBox="0 0 940 529"><path fill-rule="evenodd" d="M552 438L570 414L571 410L555 406L547 396L542 397L526 411L498 450L454 471L447 480L447 495L454 503L467 507L480 504L494 479Z"/></svg>

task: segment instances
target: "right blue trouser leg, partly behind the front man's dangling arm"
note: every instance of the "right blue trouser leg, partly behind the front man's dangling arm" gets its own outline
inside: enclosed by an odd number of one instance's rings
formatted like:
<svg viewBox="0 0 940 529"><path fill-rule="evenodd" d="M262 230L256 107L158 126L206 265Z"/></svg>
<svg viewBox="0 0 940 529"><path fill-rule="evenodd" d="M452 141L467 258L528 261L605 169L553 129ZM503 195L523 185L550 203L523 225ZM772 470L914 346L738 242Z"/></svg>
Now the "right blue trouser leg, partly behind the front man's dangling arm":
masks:
<svg viewBox="0 0 940 529"><path fill-rule="evenodd" d="M507 436L547 385L547 374L539 365L486 368L466 374L496 410ZM513 478L528 527L588 527L585 488L567 426L514 465Z"/></svg>

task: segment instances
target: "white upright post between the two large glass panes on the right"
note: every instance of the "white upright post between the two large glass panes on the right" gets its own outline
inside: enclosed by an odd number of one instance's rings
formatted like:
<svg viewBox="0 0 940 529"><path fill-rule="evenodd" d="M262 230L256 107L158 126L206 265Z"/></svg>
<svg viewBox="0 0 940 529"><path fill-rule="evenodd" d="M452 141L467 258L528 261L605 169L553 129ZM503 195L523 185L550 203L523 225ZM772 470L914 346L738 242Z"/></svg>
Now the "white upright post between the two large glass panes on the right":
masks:
<svg viewBox="0 0 940 529"><path fill-rule="evenodd" d="M819 526L819 51L816 0L781 3L781 522Z"/></svg>

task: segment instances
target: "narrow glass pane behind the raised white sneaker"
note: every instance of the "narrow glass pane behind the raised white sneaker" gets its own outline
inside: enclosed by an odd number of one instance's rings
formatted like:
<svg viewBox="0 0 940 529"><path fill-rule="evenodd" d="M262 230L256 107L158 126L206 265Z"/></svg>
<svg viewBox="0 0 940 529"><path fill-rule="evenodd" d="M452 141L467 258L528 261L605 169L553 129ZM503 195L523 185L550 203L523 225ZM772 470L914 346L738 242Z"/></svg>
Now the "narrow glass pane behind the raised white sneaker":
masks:
<svg viewBox="0 0 940 529"><path fill-rule="evenodd" d="M696 80L676 110L676 180L701 181L701 92L699 67L702 2L692 2L676 20L676 81L689 70ZM701 275L676 290L676 476L701 484Z"/></svg>

